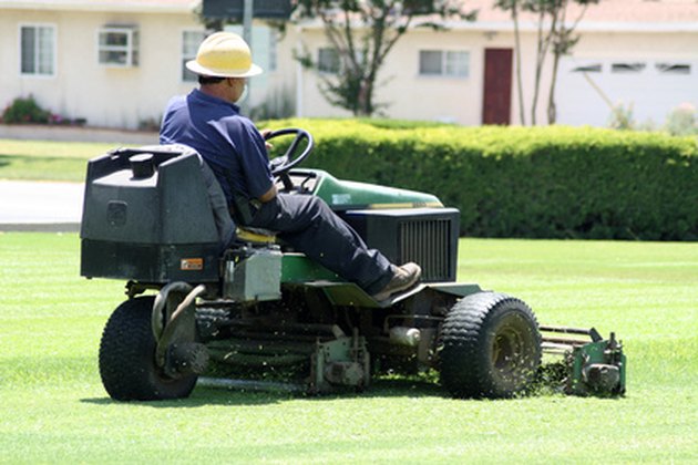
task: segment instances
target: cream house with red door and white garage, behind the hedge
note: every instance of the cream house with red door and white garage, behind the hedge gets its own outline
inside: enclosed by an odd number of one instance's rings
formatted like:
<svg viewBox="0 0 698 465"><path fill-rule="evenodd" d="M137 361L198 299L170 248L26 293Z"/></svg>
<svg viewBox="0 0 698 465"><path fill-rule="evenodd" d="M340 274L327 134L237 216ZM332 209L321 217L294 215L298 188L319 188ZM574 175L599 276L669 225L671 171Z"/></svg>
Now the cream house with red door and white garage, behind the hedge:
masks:
<svg viewBox="0 0 698 465"><path fill-rule="evenodd" d="M520 124L513 22L493 0L464 0L475 22L449 22L445 32L415 28L388 56L378 101L397 118L451 121L464 125ZM571 2L572 3L572 2ZM571 6L567 19L577 17ZM523 16L522 76L525 121L531 123L536 19ZM610 106L634 110L638 122L661 124L681 103L698 106L698 3L692 0L601 0L577 27L581 41L563 58L557 85L557 122L605 126ZM320 55L327 41L316 24L300 27L300 41ZM437 60L434 69L433 61ZM548 58L536 121L547 122ZM306 116L346 115L317 92L317 79L300 74L298 111Z"/></svg>

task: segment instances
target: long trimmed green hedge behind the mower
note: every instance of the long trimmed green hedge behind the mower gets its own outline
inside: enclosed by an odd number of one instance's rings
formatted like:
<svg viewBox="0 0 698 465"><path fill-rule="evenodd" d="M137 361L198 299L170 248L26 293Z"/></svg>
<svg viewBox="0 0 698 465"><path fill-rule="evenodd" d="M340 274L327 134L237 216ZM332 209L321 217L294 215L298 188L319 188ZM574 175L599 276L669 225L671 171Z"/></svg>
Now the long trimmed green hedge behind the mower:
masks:
<svg viewBox="0 0 698 465"><path fill-rule="evenodd" d="M316 137L305 166L438 195L479 237L698 240L692 137L601 128L284 120Z"/></svg>

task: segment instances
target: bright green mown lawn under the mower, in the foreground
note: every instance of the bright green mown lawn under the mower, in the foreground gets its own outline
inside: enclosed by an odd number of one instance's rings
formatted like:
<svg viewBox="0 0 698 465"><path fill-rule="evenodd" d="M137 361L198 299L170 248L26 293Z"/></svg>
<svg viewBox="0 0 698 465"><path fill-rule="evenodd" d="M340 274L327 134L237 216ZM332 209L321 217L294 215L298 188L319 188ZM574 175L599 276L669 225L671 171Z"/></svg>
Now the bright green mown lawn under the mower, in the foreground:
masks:
<svg viewBox="0 0 698 465"><path fill-rule="evenodd" d="M75 235L0 234L0 462L698 462L698 245L460 248L461 281L522 298L542 322L617 331L627 396L458 401L403 379L362 395L197 388L184 401L115 403L96 352L124 283L80 278Z"/></svg>

